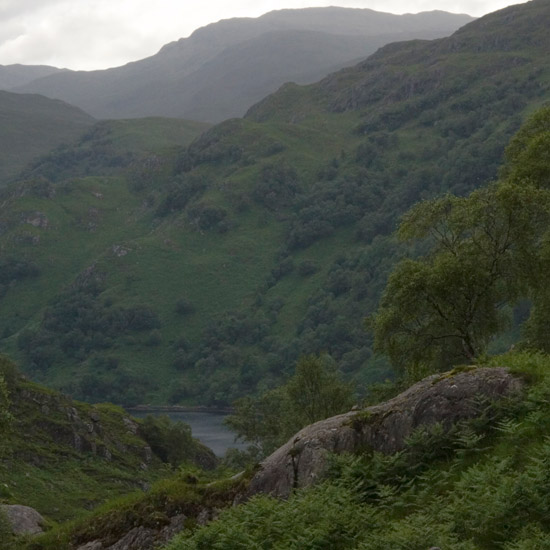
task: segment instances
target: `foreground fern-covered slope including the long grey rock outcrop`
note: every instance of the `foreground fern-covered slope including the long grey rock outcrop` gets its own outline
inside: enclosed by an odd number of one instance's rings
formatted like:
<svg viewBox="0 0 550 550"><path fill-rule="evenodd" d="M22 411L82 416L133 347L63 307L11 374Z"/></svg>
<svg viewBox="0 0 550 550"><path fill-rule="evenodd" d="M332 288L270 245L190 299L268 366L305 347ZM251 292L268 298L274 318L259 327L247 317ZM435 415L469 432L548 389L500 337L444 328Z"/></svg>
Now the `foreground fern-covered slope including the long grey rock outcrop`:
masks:
<svg viewBox="0 0 550 550"><path fill-rule="evenodd" d="M544 548L548 358L502 356L491 367L431 376L392 400L317 422L255 475L166 480L31 548L149 550L181 514L188 521L163 548L266 540L280 550ZM304 477L291 487L297 473Z"/></svg>

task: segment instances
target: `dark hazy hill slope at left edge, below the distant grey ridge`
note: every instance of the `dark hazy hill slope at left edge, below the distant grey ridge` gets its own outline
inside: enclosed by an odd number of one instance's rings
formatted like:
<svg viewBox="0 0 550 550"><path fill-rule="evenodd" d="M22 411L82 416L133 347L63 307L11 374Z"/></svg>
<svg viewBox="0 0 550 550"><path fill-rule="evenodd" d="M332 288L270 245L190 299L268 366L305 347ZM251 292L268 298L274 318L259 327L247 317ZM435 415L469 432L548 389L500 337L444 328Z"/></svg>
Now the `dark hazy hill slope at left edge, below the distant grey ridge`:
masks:
<svg viewBox="0 0 550 550"><path fill-rule="evenodd" d="M72 141L94 119L77 107L39 95L0 91L0 181L31 160Z"/></svg>

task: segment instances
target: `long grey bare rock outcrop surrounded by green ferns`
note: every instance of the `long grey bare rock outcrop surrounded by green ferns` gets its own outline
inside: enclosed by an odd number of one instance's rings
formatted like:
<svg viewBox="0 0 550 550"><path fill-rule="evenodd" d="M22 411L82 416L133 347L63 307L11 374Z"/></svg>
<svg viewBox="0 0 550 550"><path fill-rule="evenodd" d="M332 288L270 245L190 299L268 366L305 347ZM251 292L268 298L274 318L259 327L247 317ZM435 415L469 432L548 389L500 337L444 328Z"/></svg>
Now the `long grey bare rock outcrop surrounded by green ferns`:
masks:
<svg viewBox="0 0 550 550"><path fill-rule="evenodd" d="M286 498L323 476L329 453L371 448L401 450L420 426L449 429L479 415L488 402L518 394L523 383L504 368L472 368L425 378L397 397L307 426L262 464L247 496L267 493Z"/></svg>

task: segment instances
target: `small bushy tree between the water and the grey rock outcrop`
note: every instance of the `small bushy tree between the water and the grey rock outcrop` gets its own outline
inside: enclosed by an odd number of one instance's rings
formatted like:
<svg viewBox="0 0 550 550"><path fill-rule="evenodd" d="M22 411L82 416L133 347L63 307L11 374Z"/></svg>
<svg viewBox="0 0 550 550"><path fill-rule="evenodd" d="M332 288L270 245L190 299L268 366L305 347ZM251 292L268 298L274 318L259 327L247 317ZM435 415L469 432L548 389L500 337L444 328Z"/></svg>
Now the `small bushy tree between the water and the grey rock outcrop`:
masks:
<svg viewBox="0 0 550 550"><path fill-rule="evenodd" d="M331 359L308 355L298 360L294 376L283 386L237 400L226 423L261 457L304 426L346 412L352 404L352 387L340 379Z"/></svg>

